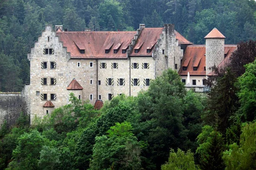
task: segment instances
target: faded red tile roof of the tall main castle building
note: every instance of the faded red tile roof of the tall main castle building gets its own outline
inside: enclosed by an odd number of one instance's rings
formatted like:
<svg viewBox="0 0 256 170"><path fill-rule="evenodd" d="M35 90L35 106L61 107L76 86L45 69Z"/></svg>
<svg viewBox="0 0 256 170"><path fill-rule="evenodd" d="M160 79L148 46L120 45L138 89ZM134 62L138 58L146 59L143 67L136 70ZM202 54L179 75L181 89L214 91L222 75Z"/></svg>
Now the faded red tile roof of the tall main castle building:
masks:
<svg viewBox="0 0 256 170"><path fill-rule="evenodd" d="M152 56L152 49L157 40L160 39L163 28L143 28L134 49L139 49L139 53L131 52L131 56ZM134 38L136 31L57 31L56 34L67 47L71 58L127 58L126 53L122 54L122 49L127 49ZM179 44L192 44L180 33L175 31ZM151 49L147 53L147 49ZM81 54L79 50L84 50ZM105 50L110 50L105 54ZM117 54L113 50L118 50Z"/></svg>

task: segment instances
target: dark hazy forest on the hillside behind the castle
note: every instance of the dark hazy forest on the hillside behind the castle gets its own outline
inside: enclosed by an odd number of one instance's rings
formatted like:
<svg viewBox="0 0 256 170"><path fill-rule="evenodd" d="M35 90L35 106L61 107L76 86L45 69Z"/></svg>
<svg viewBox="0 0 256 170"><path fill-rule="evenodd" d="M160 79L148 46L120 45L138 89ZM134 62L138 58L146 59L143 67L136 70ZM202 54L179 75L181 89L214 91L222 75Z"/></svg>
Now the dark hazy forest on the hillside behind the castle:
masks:
<svg viewBox="0 0 256 170"><path fill-rule="evenodd" d="M69 31L131 31L175 24L195 44L218 28L227 44L256 40L254 0L1 0L0 91L29 83L27 52L45 24Z"/></svg>

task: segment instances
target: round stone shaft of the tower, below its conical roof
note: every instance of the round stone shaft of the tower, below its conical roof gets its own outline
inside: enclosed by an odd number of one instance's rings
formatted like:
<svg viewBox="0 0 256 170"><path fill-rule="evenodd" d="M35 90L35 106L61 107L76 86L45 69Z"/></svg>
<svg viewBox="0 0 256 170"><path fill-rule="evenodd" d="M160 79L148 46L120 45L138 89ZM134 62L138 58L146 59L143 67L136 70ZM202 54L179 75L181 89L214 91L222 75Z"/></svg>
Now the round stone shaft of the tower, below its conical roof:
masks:
<svg viewBox="0 0 256 170"><path fill-rule="evenodd" d="M224 59L224 38L206 39L206 75L212 72L209 68L218 66Z"/></svg>

